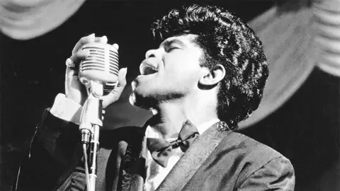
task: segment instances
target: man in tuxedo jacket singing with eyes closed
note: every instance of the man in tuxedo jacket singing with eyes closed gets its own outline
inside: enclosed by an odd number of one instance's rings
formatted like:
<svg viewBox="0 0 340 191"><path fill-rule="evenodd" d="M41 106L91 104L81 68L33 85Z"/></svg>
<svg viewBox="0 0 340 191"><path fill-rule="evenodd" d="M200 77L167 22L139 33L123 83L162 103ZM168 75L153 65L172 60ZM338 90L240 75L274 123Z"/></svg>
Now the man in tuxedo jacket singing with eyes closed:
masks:
<svg viewBox="0 0 340 191"><path fill-rule="evenodd" d="M152 33L162 43L140 64L130 102L154 116L145 127L101 131L96 190L293 190L287 158L232 131L258 107L268 76L254 31L223 8L193 5L170 11ZM107 39L81 38L72 62L93 41ZM118 100L125 74L104 108ZM37 128L18 190L86 189L77 126L86 95L72 65L65 88Z"/></svg>

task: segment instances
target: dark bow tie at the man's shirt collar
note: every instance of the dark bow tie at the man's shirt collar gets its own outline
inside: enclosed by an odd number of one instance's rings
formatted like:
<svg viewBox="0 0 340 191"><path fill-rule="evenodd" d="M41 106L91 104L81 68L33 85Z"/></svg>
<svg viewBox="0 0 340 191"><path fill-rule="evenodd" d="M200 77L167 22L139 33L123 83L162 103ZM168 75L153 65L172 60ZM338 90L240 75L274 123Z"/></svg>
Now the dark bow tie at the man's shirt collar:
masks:
<svg viewBox="0 0 340 191"><path fill-rule="evenodd" d="M164 139L147 138L147 149L154 161L166 168L172 149L180 147L181 151L185 152L197 137L197 128L187 120L183 123L178 139L169 142Z"/></svg>

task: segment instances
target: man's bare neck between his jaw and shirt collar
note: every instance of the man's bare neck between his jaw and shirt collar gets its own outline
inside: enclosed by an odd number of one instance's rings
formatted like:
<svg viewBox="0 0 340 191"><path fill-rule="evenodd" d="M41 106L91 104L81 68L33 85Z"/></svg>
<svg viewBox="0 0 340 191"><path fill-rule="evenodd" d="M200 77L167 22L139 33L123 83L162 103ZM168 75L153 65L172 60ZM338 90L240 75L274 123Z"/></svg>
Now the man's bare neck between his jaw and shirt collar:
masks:
<svg viewBox="0 0 340 191"><path fill-rule="evenodd" d="M149 120L149 125L162 134L164 139L168 139L178 136L186 120L190 120L196 127L204 122L216 120L217 100L214 102L210 98L206 95L187 96L160 103L157 107L157 114Z"/></svg>

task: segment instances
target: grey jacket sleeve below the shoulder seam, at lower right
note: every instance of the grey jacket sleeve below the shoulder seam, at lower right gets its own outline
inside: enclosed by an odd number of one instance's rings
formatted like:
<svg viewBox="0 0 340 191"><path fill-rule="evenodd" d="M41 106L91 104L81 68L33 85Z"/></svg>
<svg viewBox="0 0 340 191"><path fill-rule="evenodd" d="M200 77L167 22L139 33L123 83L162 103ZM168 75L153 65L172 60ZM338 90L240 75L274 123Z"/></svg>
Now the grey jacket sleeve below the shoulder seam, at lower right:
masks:
<svg viewBox="0 0 340 191"><path fill-rule="evenodd" d="M293 166L287 158L280 156L251 173L237 190L294 190L294 186Z"/></svg>

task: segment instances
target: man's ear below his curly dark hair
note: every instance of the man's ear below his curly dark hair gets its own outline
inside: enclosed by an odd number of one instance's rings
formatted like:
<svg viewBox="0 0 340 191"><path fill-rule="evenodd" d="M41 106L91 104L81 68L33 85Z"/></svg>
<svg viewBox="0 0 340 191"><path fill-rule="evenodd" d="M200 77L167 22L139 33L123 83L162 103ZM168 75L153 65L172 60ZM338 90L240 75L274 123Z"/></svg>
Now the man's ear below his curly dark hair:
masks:
<svg viewBox="0 0 340 191"><path fill-rule="evenodd" d="M206 68L207 72L204 76L200 78L198 83L203 86L215 86L222 79L225 78L225 67L222 64L217 64L213 69L209 70Z"/></svg>

